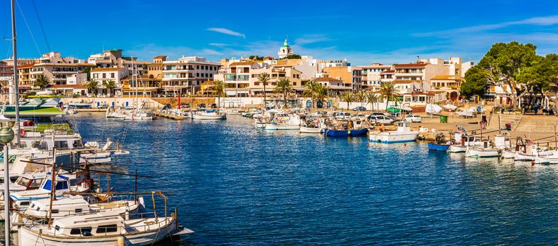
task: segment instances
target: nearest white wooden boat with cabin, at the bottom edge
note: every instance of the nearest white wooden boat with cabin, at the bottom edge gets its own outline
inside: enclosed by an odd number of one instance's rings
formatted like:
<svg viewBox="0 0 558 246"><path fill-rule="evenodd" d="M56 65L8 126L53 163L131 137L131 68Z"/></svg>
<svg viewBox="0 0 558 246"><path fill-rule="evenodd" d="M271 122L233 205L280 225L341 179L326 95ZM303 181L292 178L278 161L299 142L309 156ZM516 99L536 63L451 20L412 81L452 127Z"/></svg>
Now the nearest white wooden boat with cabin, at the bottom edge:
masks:
<svg viewBox="0 0 558 246"><path fill-rule="evenodd" d="M178 215L125 218L118 212L66 216L52 225L23 226L19 245L153 245L178 232ZM193 233L188 230L187 233Z"/></svg>

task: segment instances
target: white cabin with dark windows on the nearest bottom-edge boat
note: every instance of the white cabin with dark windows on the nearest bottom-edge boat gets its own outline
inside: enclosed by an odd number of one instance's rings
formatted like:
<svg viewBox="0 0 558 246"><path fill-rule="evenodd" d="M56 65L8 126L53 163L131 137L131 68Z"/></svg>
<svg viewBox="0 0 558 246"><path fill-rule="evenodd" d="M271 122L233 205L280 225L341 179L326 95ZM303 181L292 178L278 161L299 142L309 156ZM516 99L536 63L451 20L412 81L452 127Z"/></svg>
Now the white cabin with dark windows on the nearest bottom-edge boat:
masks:
<svg viewBox="0 0 558 246"><path fill-rule="evenodd" d="M70 237L120 235L126 233L122 216L111 212L98 212L56 219L54 235Z"/></svg>

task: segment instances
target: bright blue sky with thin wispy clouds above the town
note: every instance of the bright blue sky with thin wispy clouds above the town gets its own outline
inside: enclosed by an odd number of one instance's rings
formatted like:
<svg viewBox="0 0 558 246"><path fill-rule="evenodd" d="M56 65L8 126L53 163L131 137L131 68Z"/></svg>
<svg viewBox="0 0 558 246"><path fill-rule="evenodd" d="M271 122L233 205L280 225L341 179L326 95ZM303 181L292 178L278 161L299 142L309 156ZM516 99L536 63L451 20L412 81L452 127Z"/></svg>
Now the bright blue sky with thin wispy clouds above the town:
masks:
<svg viewBox="0 0 558 246"><path fill-rule="evenodd" d="M558 53L558 2L434 2L18 0L18 54L46 53L46 36L51 51L78 58L103 48L144 60L275 57L287 35L294 53L353 65L416 56L478 61L493 43L513 40ZM0 34L9 39L9 1L0 4ZM0 58L10 52L11 42L1 41Z"/></svg>

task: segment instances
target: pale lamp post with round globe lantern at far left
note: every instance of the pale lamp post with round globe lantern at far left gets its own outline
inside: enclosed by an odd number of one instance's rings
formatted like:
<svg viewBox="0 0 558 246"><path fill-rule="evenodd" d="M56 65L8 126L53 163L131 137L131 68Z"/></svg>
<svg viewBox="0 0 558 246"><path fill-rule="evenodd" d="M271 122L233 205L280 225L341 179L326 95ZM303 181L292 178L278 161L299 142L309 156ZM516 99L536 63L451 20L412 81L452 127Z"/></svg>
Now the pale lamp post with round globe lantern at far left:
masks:
<svg viewBox="0 0 558 246"><path fill-rule="evenodd" d="M8 125L0 129L0 143L4 143L4 233L6 235L5 245L10 245L10 175L8 173L8 144L13 140L13 130Z"/></svg>

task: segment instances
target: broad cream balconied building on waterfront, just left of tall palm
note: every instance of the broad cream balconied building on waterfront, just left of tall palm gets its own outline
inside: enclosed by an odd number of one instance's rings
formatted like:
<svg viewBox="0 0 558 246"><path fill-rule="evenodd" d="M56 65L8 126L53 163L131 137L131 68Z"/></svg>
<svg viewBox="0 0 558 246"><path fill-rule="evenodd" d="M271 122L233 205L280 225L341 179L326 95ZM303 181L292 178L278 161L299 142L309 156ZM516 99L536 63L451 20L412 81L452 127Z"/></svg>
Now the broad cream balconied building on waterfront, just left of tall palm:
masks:
<svg viewBox="0 0 558 246"><path fill-rule="evenodd" d="M166 60L163 63L163 92L168 96L177 93L190 93L198 91L199 86L207 81L213 80L221 63L213 63L206 58L190 56L179 60Z"/></svg>

